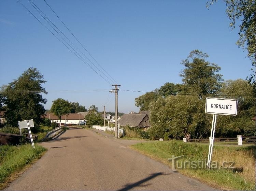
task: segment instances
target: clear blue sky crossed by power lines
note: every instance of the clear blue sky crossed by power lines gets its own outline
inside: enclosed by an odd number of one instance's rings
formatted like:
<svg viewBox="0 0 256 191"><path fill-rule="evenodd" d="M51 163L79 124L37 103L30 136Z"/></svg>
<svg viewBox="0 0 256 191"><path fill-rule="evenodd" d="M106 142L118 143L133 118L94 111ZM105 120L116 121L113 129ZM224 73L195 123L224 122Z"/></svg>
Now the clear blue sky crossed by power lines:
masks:
<svg viewBox="0 0 256 191"><path fill-rule="evenodd" d="M19 1L56 34L27 0ZM43 0L33 2L100 68ZM166 82L182 83L179 74L184 67L180 63L195 49L207 53L208 61L221 67L224 80L246 79L250 74L251 61L236 45L239 28L229 28L223 1L209 10L203 0L46 2L121 90L152 91ZM115 110L114 93L109 92L113 83L70 52L17 0L0 1L0 67L0 86L29 67L40 70L47 81L43 87L49 92L43 94L48 100L45 109L63 98L87 109L96 105L102 111L105 105L106 111ZM143 93L121 90L119 111L138 112L134 99Z"/></svg>

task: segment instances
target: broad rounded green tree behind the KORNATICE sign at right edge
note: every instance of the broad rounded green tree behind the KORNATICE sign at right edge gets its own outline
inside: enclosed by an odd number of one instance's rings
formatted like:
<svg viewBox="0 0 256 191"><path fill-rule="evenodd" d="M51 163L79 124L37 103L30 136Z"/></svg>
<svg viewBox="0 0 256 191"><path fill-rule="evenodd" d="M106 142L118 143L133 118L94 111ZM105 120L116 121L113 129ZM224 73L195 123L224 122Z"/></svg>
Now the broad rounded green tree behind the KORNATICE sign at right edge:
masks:
<svg viewBox="0 0 256 191"><path fill-rule="evenodd" d="M221 93L223 98L238 100L237 116L217 117L216 136L236 137L255 136L255 94L253 87L247 81L228 80L224 83Z"/></svg>

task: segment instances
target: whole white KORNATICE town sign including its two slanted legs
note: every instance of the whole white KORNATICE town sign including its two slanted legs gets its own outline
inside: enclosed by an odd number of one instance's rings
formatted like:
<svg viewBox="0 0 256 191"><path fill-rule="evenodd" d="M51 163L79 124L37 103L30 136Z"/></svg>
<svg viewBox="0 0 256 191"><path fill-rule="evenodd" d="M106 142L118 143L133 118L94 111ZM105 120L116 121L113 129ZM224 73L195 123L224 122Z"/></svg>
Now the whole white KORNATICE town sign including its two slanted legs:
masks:
<svg viewBox="0 0 256 191"><path fill-rule="evenodd" d="M209 151L208 151L208 159L207 159L207 167L210 169L217 114L236 116L237 100L224 99L224 98L206 98L205 113L213 114L212 129L211 129L211 136L209 138L210 143L209 143Z"/></svg>

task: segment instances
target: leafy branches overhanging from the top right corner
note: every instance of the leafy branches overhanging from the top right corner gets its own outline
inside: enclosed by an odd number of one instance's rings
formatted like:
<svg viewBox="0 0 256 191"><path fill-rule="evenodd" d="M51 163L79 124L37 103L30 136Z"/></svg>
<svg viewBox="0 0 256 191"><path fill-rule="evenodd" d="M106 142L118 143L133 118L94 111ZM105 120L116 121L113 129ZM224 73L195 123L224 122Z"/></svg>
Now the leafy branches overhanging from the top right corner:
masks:
<svg viewBox="0 0 256 191"><path fill-rule="evenodd" d="M208 2L207 7L209 7L209 4L213 4L214 2L217 2L217 0L211 0L210 3ZM248 52L247 56L252 60L252 74L250 74L250 77L247 76L247 80L251 85L253 85L255 93L255 0L224 0L224 2L227 5L226 14L231 20L231 23L229 24L231 29L236 27L237 21L241 21L236 44L243 49L246 48Z"/></svg>

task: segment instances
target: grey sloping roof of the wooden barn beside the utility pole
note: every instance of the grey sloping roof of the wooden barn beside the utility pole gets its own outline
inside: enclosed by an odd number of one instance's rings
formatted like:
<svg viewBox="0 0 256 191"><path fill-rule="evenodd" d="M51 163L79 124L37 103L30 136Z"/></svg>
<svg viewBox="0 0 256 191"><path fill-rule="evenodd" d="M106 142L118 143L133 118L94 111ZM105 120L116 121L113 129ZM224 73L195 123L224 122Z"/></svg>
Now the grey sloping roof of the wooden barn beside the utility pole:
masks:
<svg viewBox="0 0 256 191"><path fill-rule="evenodd" d="M125 114L118 121L120 125L130 125L137 127L147 114Z"/></svg>

